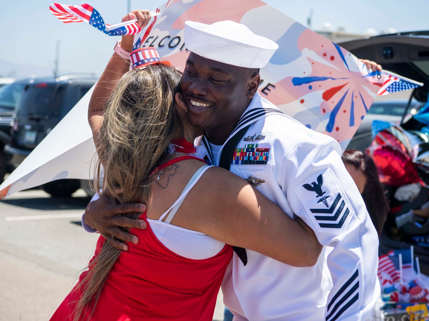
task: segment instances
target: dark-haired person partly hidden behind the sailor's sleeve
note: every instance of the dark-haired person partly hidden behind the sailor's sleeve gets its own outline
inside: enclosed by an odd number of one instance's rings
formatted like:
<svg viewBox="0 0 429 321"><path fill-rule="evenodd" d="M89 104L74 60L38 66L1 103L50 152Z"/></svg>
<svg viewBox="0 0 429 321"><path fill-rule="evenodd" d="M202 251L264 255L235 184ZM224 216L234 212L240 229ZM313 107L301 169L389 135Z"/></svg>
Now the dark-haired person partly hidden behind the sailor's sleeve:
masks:
<svg viewBox="0 0 429 321"><path fill-rule="evenodd" d="M372 223L380 236L389 213L389 203L383 185L378 179L374 160L364 152L355 149L347 149L341 159L356 183Z"/></svg>

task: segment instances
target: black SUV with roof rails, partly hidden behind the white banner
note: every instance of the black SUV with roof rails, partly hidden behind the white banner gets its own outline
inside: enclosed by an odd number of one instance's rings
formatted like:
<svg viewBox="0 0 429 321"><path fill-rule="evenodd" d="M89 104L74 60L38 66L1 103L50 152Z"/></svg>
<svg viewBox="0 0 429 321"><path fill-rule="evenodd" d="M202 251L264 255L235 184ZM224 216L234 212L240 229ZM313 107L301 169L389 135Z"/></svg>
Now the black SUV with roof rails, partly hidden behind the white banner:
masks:
<svg viewBox="0 0 429 321"><path fill-rule="evenodd" d="M4 151L16 168L55 125L97 82L94 77L67 75L30 80L16 104L11 142ZM70 196L80 187L78 179L60 179L42 185L52 196Z"/></svg>

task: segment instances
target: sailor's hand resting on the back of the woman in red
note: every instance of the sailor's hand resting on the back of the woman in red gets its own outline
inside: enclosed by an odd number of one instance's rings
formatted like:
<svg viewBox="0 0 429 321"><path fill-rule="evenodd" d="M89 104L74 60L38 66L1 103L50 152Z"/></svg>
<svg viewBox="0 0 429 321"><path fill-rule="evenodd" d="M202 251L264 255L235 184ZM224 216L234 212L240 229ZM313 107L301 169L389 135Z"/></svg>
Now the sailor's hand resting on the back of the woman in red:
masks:
<svg viewBox="0 0 429 321"><path fill-rule="evenodd" d="M125 232L122 227L145 229L144 220L133 220L122 216L123 213L146 211L145 204L117 205L109 196L102 194L99 199L92 201L85 209L85 223L94 227L109 242L112 247L127 251L128 245L123 241L134 244L139 243L136 235Z"/></svg>

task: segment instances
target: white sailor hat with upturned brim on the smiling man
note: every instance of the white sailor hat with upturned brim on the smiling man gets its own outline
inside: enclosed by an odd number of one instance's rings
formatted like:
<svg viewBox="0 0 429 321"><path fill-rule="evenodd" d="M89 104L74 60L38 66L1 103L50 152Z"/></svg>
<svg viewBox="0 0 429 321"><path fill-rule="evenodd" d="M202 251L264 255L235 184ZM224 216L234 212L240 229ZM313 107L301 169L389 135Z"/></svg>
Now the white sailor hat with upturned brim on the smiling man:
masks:
<svg viewBox="0 0 429 321"><path fill-rule="evenodd" d="M278 48L272 40L229 20L214 24L186 21L185 44L199 56L245 68L264 67Z"/></svg>

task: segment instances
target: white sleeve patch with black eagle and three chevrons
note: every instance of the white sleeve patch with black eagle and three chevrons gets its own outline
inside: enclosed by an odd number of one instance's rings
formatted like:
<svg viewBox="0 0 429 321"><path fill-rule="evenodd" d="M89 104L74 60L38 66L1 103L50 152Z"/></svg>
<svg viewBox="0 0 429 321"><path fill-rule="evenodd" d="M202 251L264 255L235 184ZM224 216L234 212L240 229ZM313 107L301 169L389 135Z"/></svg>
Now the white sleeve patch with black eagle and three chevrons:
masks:
<svg viewBox="0 0 429 321"><path fill-rule="evenodd" d="M319 232L342 233L354 215L331 169L309 176L293 190Z"/></svg>

